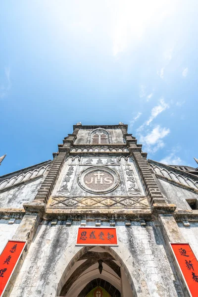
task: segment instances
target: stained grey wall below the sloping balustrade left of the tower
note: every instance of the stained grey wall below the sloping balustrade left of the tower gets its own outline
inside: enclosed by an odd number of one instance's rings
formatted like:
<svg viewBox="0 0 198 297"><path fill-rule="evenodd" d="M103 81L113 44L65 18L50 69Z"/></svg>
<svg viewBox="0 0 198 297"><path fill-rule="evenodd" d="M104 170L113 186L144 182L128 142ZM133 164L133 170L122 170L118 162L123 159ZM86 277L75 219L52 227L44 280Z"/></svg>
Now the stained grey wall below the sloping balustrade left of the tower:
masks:
<svg viewBox="0 0 198 297"><path fill-rule="evenodd" d="M35 198L43 180L44 177L0 193L0 208L23 208L23 203Z"/></svg>

